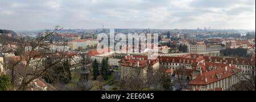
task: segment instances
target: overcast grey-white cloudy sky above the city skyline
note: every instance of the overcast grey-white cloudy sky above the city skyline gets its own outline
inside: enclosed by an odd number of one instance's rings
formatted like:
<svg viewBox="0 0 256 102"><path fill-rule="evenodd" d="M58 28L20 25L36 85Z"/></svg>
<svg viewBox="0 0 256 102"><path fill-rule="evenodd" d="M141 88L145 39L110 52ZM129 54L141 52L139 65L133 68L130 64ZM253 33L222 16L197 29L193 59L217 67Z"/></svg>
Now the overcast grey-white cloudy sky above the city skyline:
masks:
<svg viewBox="0 0 256 102"><path fill-rule="evenodd" d="M255 29L255 0L1 0L0 29Z"/></svg>

